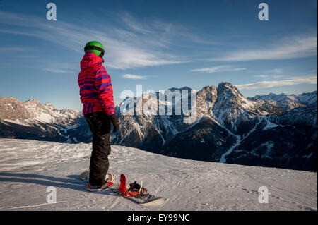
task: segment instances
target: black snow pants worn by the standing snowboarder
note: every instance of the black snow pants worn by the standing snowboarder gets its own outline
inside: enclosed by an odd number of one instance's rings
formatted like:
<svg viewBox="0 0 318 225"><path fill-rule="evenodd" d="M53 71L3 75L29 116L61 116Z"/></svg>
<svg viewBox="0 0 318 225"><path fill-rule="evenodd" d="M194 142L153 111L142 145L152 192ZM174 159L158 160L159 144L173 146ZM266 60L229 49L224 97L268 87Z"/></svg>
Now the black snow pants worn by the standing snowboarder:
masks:
<svg viewBox="0 0 318 225"><path fill-rule="evenodd" d="M90 157L90 185L102 186L110 163L110 118L104 111L85 114L86 122L93 133L93 151Z"/></svg>

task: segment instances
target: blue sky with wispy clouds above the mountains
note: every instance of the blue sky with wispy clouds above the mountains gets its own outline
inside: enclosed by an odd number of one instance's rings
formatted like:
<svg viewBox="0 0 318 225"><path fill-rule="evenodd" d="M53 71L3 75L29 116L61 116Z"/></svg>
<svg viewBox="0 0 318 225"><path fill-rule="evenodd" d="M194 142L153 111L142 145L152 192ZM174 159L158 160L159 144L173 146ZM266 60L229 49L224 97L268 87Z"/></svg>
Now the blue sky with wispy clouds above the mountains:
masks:
<svg viewBox="0 0 318 225"><path fill-rule="evenodd" d="M46 5L57 6L47 20ZM259 20L258 5L269 5ZM123 90L227 81L245 97L317 90L317 1L0 1L0 96L81 109L83 47Z"/></svg>

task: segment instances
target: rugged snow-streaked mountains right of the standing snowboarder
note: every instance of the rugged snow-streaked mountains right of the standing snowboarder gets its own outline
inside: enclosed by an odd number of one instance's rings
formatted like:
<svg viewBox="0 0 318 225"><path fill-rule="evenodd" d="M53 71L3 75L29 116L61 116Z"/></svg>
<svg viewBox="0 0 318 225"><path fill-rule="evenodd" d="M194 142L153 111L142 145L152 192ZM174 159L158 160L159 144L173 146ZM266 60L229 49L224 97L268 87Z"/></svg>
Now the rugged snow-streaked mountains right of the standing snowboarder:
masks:
<svg viewBox="0 0 318 225"><path fill-rule="evenodd" d="M122 104L133 102L136 109L151 99L175 111L179 98L162 101L158 95ZM317 171L317 92L289 95L288 107L285 98L245 98L230 83L207 86L196 92L192 123L183 123L183 114L123 115L121 104L116 110L122 127L112 143L185 159Z"/></svg>

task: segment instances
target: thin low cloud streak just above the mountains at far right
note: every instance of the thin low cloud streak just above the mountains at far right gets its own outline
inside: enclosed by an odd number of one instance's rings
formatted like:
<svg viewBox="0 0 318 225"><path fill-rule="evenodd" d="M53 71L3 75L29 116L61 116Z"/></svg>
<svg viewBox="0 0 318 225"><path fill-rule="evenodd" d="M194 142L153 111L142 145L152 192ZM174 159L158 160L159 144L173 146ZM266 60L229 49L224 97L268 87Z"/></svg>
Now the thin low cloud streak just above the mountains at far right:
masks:
<svg viewBox="0 0 318 225"><path fill-rule="evenodd" d="M317 75L308 75L305 77L293 77L293 78L288 78L286 80L259 81L256 83L235 85L235 87L241 90L254 90L254 89L261 89L261 88L283 87L283 86L300 85L300 84L316 84L317 85Z"/></svg>

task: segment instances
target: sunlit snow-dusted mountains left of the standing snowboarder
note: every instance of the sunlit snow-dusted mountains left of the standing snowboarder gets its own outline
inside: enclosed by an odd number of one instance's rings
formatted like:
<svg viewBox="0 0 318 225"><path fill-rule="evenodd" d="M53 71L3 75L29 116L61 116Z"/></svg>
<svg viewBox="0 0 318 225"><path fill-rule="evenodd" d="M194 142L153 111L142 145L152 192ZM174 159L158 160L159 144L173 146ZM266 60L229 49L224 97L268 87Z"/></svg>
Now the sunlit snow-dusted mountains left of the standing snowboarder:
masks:
<svg viewBox="0 0 318 225"><path fill-rule="evenodd" d="M77 110L56 109L37 99L21 102L0 97L0 136L60 142L89 140L83 116Z"/></svg>

